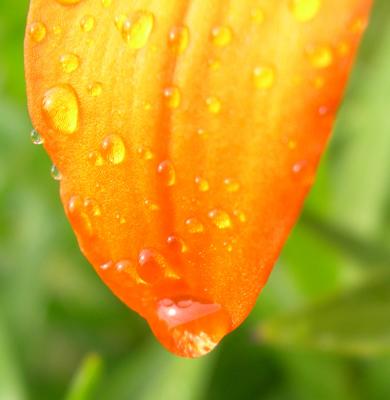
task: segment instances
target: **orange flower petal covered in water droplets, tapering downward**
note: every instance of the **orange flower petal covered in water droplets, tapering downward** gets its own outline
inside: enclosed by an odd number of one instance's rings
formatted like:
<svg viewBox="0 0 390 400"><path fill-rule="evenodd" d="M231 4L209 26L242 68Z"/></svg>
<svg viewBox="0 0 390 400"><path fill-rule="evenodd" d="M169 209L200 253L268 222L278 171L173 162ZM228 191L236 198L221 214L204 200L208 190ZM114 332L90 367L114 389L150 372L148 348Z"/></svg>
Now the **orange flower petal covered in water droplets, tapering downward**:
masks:
<svg viewBox="0 0 390 400"><path fill-rule="evenodd" d="M181 356L247 317L314 180L370 0L32 0L35 128L80 247Z"/></svg>

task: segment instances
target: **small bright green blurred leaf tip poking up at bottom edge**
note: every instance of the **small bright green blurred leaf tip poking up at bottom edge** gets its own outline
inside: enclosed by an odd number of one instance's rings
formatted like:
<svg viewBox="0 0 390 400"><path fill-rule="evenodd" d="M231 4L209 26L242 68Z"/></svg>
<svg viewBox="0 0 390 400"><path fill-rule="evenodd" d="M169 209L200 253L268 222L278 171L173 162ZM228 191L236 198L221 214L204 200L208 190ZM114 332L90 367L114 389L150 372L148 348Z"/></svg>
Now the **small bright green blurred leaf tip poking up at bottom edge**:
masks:
<svg viewBox="0 0 390 400"><path fill-rule="evenodd" d="M94 400L102 376L103 362L96 354L90 354L82 362L73 378L66 400Z"/></svg>

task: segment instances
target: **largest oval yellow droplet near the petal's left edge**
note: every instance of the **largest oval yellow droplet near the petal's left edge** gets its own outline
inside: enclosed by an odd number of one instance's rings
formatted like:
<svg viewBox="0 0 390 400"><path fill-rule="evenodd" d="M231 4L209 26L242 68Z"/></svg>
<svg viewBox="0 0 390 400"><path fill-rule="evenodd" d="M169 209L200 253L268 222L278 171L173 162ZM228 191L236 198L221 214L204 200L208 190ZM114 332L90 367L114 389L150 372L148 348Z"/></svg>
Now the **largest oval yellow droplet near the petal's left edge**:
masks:
<svg viewBox="0 0 390 400"><path fill-rule="evenodd" d="M59 85L46 91L42 111L50 127L60 133L71 134L77 130L79 104L70 85Z"/></svg>

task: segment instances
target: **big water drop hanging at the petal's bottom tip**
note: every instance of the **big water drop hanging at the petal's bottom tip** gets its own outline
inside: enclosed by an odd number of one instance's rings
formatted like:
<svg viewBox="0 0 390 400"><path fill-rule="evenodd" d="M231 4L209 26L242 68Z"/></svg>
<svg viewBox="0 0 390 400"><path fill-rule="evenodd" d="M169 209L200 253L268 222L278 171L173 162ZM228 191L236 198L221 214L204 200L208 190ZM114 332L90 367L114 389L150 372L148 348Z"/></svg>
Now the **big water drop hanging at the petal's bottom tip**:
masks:
<svg viewBox="0 0 390 400"><path fill-rule="evenodd" d="M156 311L157 337L182 357L209 353L231 328L231 320L219 304L192 296L161 299Z"/></svg>

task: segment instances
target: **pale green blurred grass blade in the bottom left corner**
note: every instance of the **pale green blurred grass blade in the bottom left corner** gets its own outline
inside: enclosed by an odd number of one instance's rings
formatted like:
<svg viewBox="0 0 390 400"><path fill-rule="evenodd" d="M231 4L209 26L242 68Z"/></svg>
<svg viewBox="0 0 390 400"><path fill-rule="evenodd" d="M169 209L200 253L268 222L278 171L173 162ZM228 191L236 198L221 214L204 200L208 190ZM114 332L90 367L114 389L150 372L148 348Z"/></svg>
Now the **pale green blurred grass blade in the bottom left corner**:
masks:
<svg viewBox="0 0 390 400"><path fill-rule="evenodd" d="M0 400L26 399L20 371L0 316Z"/></svg>

